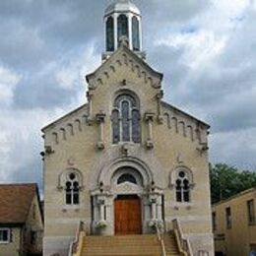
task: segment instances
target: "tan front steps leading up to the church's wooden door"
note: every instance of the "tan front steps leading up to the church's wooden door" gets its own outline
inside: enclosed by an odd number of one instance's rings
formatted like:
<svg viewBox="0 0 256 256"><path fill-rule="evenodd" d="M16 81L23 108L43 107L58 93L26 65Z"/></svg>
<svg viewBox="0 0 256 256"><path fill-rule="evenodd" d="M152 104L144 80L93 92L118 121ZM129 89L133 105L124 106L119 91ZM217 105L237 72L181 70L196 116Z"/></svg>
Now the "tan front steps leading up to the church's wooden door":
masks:
<svg viewBox="0 0 256 256"><path fill-rule="evenodd" d="M166 234L167 255L178 254L173 235ZM123 236L86 236L81 256L161 256L156 234Z"/></svg>

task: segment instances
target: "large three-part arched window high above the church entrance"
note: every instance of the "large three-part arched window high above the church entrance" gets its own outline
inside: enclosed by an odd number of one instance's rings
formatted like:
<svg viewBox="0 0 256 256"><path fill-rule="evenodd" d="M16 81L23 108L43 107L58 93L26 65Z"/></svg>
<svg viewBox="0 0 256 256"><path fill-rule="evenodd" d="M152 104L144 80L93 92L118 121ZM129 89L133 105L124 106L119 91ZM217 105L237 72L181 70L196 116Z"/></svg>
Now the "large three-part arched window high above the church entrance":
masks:
<svg viewBox="0 0 256 256"><path fill-rule="evenodd" d="M141 142L139 105L133 96L117 96L112 111L113 144L118 142Z"/></svg>

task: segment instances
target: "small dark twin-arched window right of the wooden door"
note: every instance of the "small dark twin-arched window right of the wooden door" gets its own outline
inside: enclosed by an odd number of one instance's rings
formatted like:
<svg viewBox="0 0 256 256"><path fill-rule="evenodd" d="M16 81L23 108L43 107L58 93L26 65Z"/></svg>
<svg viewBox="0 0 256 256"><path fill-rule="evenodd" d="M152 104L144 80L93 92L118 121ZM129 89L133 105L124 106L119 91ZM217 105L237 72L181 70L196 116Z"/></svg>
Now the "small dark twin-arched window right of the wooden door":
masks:
<svg viewBox="0 0 256 256"><path fill-rule="evenodd" d="M190 189L188 174L180 170L176 178L176 201L177 202L190 202Z"/></svg>

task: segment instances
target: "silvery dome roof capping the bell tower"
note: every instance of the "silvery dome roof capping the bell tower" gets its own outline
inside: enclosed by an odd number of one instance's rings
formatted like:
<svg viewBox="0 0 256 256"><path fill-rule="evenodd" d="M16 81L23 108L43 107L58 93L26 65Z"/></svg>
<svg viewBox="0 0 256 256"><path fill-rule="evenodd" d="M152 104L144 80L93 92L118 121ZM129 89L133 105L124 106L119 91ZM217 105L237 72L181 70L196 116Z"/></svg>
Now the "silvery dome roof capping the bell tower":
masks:
<svg viewBox="0 0 256 256"><path fill-rule="evenodd" d="M132 12L141 15L139 8L129 0L115 0L105 9L105 16L113 12Z"/></svg>

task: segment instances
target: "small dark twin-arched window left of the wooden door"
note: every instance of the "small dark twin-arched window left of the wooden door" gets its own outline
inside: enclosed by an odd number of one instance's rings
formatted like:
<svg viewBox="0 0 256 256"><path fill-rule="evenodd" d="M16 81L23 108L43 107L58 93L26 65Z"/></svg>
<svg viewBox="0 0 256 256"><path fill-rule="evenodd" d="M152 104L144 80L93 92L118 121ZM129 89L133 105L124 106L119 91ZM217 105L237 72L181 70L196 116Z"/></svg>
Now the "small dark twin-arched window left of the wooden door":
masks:
<svg viewBox="0 0 256 256"><path fill-rule="evenodd" d="M75 172L69 173L65 183L66 205L79 205L79 190L78 175Z"/></svg>

